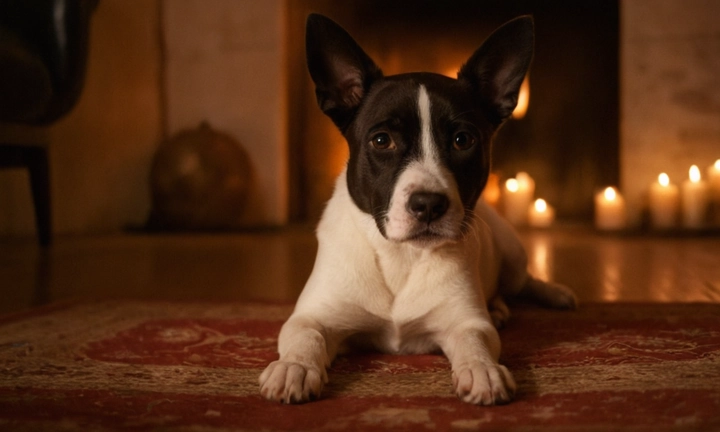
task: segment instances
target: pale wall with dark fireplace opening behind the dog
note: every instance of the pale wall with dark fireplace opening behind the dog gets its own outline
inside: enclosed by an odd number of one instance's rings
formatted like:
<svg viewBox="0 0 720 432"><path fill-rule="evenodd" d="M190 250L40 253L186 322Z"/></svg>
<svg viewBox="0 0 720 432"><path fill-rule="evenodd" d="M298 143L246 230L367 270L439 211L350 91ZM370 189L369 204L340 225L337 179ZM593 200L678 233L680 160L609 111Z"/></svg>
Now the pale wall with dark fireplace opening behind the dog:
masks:
<svg viewBox="0 0 720 432"><path fill-rule="evenodd" d="M247 226L316 219L347 153L316 107L305 70L310 12L347 27L387 73L449 73L495 26L532 13L537 44L530 107L524 119L501 130L494 167L504 177L529 172L537 196L561 219L589 223L596 189L616 186L629 226L642 226L648 189L659 174L680 185L692 165L705 177L720 158L717 1L142 4L100 2L88 86L73 114L51 131L53 196L62 198L53 201L56 233L142 224L159 141L203 121L249 154L256 187ZM22 175L5 170L0 178L6 209L0 234L34 233Z"/></svg>

